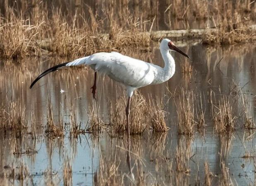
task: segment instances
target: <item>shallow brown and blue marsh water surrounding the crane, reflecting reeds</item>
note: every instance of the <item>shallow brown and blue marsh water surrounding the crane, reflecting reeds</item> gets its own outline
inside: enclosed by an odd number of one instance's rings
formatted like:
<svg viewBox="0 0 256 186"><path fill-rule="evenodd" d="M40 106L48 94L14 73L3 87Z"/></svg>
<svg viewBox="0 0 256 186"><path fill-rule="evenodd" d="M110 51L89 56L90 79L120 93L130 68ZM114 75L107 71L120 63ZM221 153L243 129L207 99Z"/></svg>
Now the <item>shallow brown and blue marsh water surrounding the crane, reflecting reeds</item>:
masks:
<svg viewBox="0 0 256 186"><path fill-rule="evenodd" d="M241 98L244 94L249 100L249 114L255 115L256 95L256 47L254 44L232 46L228 48L205 47L197 43L180 43L191 57L188 60L193 66L191 75L181 73L183 56L174 53L176 73L166 83L156 86L140 88L142 95L149 99L158 96L163 98L166 114L166 124L170 128L166 134L153 133L146 130L143 135L131 136L131 165L135 175L135 184L139 182L139 174L145 177L144 184L151 185L188 185L204 184L204 163L209 163L210 172L213 173L213 185L220 184L222 180L221 162L225 162L229 172L230 183L234 185L255 184L255 134L254 131L243 129L244 117ZM157 46L150 52L123 51L126 55L154 62L163 66L162 57ZM223 59L221 60L221 58ZM34 110L36 117L36 139L27 133L23 134L22 141L13 138L9 132L0 137L0 173L10 171L10 167L20 167L20 162L27 165L29 176L24 180L4 179L1 182L15 185L28 183L29 185L42 185L47 183L63 184L63 166L67 158L72 165L73 185L92 185L94 176L99 172L100 159L110 165L120 162L118 173L125 185L132 185L128 179L129 169L126 164L126 139L122 136L111 138L101 132L99 136L81 134L72 138L67 131L63 138L47 138L45 135L46 107L48 97L53 104L54 120L57 122L60 114L65 123L68 123L68 104L73 101L77 109L77 121L82 127L88 122L89 107L99 105L99 113L105 122L108 122L109 100L113 102L116 97L123 95L123 89L108 77L98 78L97 102L92 100L90 87L93 84L93 72L86 68L62 70L43 77L31 90L28 89L31 81L48 67L59 64L65 60L57 57L28 58L18 62L0 62L0 99L3 105L8 100L20 100L26 107L29 121L30 113ZM236 85L242 91L235 92ZM169 91L167 91L167 88ZM180 89L193 90L196 99L202 95L202 105L205 110L205 134L199 134L195 129L192 138L178 134L178 114L176 104L179 101ZM61 93L63 90L65 92ZM232 107L238 116L236 130L230 138L216 134L213 130L209 92L216 96L216 105L221 95L229 95L236 100ZM220 93L221 92L221 93ZM134 110L132 110L133 112ZM20 144L20 152L32 149L30 153L17 153L13 147ZM186 167L188 172L176 172L176 148L181 147L188 157ZM124 149L123 149L124 148ZM31 153L32 152L32 153ZM246 152L252 158L242 158Z"/></svg>

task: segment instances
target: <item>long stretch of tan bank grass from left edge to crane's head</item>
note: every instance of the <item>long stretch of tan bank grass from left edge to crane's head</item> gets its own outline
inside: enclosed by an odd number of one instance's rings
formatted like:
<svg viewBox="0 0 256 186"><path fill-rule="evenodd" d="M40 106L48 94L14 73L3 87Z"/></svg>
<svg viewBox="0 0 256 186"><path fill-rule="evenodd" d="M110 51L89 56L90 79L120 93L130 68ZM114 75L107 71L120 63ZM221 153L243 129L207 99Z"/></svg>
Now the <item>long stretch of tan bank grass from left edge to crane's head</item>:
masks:
<svg viewBox="0 0 256 186"><path fill-rule="evenodd" d="M2 57L17 59L41 55L44 51L61 57L79 57L125 46L149 46L149 34L142 33L145 23L130 12L127 12L130 16L122 20L109 12L102 20L91 8L88 12L81 10L80 14L67 16L61 10L46 7L38 3L29 17L22 12L15 14L13 8L7 7L5 17L0 19ZM103 22L106 29L102 29Z"/></svg>

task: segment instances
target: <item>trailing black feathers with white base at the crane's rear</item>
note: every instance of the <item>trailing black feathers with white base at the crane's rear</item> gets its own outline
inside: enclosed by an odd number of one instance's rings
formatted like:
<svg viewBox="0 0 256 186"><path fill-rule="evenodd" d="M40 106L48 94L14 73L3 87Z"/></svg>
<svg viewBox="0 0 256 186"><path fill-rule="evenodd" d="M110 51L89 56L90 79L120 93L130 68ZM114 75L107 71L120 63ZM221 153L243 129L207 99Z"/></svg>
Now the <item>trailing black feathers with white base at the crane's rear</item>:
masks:
<svg viewBox="0 0 256 186"><path fill-rule="evenodd" d="M87 60L88 57L89 57L89 56L87 56L87 57L82 57L82 58L79 58L79 59L74 60L74 61L71 61L71 62L65 62L65 63L62 63L62 64L58 64L58 65L56 65L56 66L54 66L54 67L51 67L51 68L47 69L46 71L44 71L42 74L40 74L40 75L31 83L29 89L31 89L31 88L34 86L34 84L35 84L37 81L39 81L39 79L41 79L41 78L42 78L43 76L45 76L46 74L49 74L50 72L54 72L54 71L56 71L56 70L58 70L58 69L61 69L61 68L63 68L63 67L70 67L70 66L77 66L77 65L80 65L80 64L85 64L85 62L86 62L86 60Z"/></svg>

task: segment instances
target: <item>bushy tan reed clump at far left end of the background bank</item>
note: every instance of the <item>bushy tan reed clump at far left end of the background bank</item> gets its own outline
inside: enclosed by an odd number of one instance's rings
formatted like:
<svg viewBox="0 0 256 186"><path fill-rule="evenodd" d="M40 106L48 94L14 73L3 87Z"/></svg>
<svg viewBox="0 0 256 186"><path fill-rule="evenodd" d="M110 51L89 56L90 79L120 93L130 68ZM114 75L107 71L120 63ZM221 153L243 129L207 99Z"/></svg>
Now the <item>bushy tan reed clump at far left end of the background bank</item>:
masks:
<svg viewBox="0 0 256 186"><path fill-rule="evenodd" d="M11 8L7 16L0 19L0 55L5 58L17 59L26 55L39 55L39 45L36 42L43 20L31 24L29 19L22 17L22 12L16 15Z"/></svg>

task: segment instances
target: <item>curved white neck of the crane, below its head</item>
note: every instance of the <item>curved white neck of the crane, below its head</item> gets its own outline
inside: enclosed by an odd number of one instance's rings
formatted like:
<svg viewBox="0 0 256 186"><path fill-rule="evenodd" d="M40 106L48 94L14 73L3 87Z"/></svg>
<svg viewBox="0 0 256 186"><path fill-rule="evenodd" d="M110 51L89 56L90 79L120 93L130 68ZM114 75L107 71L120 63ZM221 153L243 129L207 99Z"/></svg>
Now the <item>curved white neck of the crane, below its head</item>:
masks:
<svg viewBox="0 0 256 186"><path fill-rule="evenodd" d="M159 67L157 76L155 77L154 84L163 83L168 81L175 73L175 62L169 50L160 48L162 58L164 60L164 68Z"/></svg>

